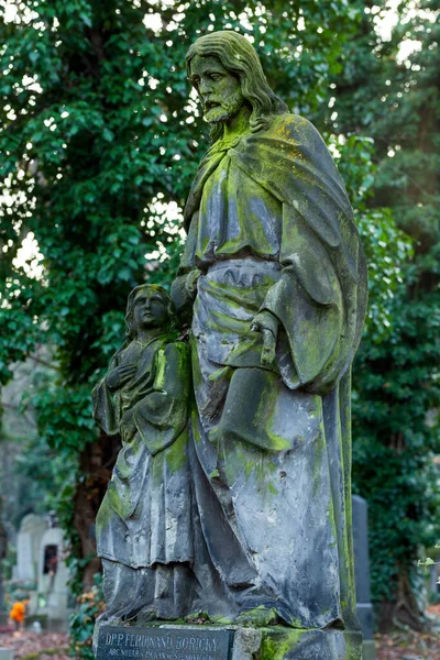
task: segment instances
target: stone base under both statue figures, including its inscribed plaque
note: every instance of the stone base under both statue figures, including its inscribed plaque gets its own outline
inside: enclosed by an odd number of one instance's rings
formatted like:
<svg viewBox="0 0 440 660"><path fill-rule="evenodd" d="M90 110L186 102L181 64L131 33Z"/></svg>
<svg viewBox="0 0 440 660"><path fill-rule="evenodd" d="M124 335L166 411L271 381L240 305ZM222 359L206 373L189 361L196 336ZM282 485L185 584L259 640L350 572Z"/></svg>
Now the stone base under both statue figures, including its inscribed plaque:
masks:
<svg viewBox="0 0 440 660"><path fill-rule="evenodd" d="M280 626L102 624L97 660L362 660L362 634Z"/></svg>

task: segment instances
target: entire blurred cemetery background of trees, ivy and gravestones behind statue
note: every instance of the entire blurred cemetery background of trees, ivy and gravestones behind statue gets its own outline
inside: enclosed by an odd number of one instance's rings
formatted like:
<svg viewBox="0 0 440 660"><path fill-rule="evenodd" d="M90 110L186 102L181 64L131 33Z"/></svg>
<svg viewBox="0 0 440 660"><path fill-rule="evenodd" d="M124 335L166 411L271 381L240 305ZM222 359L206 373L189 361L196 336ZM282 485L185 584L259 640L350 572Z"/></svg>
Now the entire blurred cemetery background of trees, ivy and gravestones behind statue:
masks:
<svg viewBox="0 0 440 660"><path fill-rule="evenodd" d="M0 0L0 647L92 658L95 516L119 442L94 425L90 391L131 288L174 278L208 147L185 54L228 29L322 133L349 190L370 264L353 481L377 657L440 658L440 1ZM24 620L11 620L19 602Z"/></svg>

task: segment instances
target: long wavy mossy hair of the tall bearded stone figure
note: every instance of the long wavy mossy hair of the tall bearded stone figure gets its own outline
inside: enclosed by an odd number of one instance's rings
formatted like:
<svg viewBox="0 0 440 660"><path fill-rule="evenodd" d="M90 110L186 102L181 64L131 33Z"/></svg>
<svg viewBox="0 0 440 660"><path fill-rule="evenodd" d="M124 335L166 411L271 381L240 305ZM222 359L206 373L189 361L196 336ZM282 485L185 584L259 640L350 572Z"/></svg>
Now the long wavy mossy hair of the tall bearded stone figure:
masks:
<svg viewBox="0 0 440 660"><path fill-rule="evenodd" d="M196 55L217 57L227 70L238 76L243 98L252 106L250 128L253 133L267 129L274 114L288 112L286 103L268 86L255 48L242 34L222 30L200 36L186 54L188 78ZM222 133L222 124L213 124L211 141L219 140Z"/></svg>

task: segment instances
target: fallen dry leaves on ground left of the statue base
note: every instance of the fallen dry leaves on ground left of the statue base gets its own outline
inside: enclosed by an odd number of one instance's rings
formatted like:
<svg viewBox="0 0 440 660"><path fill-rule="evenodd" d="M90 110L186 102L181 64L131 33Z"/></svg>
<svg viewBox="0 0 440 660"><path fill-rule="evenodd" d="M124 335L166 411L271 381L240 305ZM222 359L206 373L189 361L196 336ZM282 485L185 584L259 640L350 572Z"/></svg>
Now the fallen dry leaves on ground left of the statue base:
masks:
<svg viewBox="0 0 440 660"><path fill-rule="evenodd" d="M32 653L32 660L70 660L68 653L68 637L62 632L12 632L10 635L0 635L0 647L14 649L14 660L24 660ZM59 649L58 653L45 654L44 650L54 651ZM30 658L30 660L31 660Z"/></svg>

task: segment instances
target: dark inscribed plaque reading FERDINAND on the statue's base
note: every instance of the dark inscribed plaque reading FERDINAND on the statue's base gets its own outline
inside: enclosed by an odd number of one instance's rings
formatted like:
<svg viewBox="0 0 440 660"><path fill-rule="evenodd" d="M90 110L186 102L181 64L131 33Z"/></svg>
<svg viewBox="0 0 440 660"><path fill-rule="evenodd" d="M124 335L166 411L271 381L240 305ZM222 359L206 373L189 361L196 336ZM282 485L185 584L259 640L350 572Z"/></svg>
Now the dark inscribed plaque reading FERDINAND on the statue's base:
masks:
<svg viewBox="0 0 440 660"><path fill-rule="evenodd" d="M229 660L233 630L102 626L97 660Z"/></svg>

